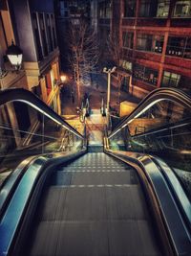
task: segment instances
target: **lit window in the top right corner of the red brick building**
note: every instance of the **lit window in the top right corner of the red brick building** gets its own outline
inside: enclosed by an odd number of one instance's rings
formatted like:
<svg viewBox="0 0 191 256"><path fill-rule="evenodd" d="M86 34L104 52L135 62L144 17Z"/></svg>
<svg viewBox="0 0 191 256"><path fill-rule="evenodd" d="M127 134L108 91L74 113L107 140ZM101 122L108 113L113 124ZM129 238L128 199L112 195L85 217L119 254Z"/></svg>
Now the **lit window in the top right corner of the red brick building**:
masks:
<svg viewBox="0 0 191 256"><path fill-rule="evenodd" d="M174 10L174 17L190 17L191 1L177 1Z"/></svg>

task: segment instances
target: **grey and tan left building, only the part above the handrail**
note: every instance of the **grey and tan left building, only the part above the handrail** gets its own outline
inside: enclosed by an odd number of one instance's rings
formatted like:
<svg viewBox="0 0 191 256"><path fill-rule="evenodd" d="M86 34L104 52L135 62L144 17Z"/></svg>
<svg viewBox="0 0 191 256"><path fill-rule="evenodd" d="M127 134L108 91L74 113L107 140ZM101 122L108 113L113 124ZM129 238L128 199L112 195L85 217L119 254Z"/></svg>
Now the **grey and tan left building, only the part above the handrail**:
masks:
<svg viewBox="0 0 191 256"><path fill-rule="evenodd" d="M13 41L23 51L23 64L17 73L1 79L2 89L23 87L37 94L60 113L59 50L55 31L53 1L2 0L0 6L0 55ZM4 62L4 63L2 63ZM1 61L10 70L8 61Z"/></svg>

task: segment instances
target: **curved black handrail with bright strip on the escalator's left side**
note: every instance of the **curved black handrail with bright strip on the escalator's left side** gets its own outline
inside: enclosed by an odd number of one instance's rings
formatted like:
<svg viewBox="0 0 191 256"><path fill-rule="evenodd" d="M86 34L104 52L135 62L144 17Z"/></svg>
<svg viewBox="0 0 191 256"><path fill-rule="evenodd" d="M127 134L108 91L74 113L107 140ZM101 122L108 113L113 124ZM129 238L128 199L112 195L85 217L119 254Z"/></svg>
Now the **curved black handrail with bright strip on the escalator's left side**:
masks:
<svg viewBox="0 0 191 256"><path fill-rule="evenodd" d="M58 122L65 128L69 129L76 136L84 139L84 137L68 123L66 123L61 116L53 111L53 109L43 103L37 96L35 96L31 91L19 88L19 89L7 89L0 92L0 105L5 105L9 102L25 102L28 105L37 107L40 112L48 114L50 118Z"/></svg>

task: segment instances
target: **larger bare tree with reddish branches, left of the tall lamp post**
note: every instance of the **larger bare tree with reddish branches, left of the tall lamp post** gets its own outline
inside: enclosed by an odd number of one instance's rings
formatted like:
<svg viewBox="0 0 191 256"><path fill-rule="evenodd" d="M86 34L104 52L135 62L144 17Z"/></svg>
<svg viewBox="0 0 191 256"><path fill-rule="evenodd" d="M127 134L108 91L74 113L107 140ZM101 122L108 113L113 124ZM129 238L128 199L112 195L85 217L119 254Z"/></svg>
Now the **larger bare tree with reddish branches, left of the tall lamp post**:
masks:
<svg viewBox="0 0 191 256"><path fill-rule="evenodd" d="M80 87L90 82L90 73L94 72L99 58L96 32L83 19L70 22L69 61L74 71L78 105L81 100Z"/></svg>

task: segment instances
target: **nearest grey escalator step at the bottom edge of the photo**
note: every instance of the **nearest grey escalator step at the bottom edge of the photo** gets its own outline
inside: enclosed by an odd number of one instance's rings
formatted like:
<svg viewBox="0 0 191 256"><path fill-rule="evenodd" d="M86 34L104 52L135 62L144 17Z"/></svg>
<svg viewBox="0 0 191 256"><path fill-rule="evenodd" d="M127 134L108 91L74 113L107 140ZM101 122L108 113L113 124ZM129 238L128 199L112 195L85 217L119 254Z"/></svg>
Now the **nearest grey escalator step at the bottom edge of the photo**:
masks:
<svg viewBox="0 0 191 256"><path fill-rule="evenodd" d="M31 256L159 255L147 221L40 222Z"/></svg>

